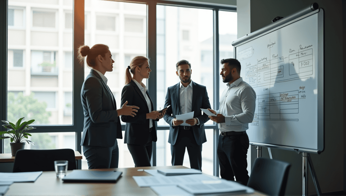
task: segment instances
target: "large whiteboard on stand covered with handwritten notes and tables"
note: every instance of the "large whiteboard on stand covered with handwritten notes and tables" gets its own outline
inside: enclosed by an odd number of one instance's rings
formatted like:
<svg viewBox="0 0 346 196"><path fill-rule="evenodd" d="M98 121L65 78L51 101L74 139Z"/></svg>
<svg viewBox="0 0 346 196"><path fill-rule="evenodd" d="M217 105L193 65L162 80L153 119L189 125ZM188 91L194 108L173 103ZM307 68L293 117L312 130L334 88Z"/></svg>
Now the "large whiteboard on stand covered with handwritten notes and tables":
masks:
<svg viewBox="0 0 346 196"><path fill-rule="evenodd" d="M322 10L235 45L241 76L256 92L251 144L324 150Z"/></svg>

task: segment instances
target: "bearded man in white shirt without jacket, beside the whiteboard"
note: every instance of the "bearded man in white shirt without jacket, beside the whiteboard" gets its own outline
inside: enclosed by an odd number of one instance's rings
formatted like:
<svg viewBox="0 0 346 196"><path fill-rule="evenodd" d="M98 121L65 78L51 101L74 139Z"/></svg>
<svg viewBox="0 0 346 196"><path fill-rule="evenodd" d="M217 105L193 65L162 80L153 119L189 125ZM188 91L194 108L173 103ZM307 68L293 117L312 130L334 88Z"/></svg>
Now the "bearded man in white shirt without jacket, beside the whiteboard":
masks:
<svg viewBox="0 0 346 196"><path fill-rule="evenodd" d="M218 111L208 109L217 116L209 116L218 123L221 131L217 155L220 164L221 178L236 180L244 185L249 179L247 168L247 150L249 138L246 130L254 118L256 93L253 88L240 77L240 63L237 59L221 60L220 75L227 88L220 97Z"/></svg>

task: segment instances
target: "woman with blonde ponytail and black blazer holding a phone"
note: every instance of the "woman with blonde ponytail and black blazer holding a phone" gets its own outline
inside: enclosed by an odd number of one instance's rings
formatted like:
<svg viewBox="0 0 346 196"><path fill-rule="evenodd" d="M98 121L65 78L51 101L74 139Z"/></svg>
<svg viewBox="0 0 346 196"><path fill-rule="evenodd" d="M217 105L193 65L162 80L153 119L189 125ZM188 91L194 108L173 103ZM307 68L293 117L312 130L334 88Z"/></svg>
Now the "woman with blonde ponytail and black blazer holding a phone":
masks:
<svg viewBox="0 0 346 196"><path fill-rule="evenodd" d="M125 71L125 86L121 92L121 104L136 104L136 116L121 115L121 120L126 122L124 143L127 143L135 167L151 166L150 160L153 152L153 142L157 141L156 127L153 120L158 121L166 113L153 111L148 88L142 83L144 78L149 78L151 69L149 59L136 56L131 60ZM130 72L133 74L131 77Z"/></svg>

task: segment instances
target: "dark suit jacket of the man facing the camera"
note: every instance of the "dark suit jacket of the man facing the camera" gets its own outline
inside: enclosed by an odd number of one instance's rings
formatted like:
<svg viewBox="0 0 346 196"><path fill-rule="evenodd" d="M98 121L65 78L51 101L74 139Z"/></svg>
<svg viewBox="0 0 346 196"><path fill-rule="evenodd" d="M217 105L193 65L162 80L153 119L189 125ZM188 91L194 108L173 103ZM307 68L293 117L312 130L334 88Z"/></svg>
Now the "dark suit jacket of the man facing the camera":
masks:
<svg viewBox="0 0 346 196"><path fill-rule="evenodd" d="M178 137L179 128L173 126L172 120L175 118L175 115L180 115L180 99L179 99L179 83L168 87L165 107L171 105L166 114L163 116L165 121L170 124L170 135L168 137L168 142L172 145L175 144L176 138ZM199 125L192 126L193 136L198 145L207 141L206 132L204 131L204 123L206 123L209 118L208 115L203 113L202 109L211 108L209 97L207 93L207 88L203 85L197 84L192 81L192 111L193 118L197 118L199 120Z"/></svg>

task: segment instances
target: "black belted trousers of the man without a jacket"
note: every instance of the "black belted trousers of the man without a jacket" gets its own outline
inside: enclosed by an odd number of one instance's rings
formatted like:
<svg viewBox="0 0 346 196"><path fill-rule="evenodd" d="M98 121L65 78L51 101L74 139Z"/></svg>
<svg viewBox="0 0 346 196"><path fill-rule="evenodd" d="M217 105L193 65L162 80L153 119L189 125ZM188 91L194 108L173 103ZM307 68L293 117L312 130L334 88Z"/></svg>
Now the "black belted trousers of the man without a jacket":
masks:
<svg viewBox="0 0 346 196"><path fill-rule="evenodd" d="M220 164L221 178L234 180L247 185L249 175L246 170L246 154L249 148L249 137L246 133L231 136L219 136L217 155Z"/></svg>

